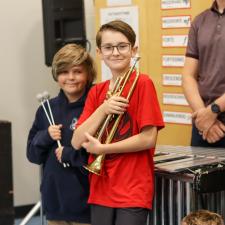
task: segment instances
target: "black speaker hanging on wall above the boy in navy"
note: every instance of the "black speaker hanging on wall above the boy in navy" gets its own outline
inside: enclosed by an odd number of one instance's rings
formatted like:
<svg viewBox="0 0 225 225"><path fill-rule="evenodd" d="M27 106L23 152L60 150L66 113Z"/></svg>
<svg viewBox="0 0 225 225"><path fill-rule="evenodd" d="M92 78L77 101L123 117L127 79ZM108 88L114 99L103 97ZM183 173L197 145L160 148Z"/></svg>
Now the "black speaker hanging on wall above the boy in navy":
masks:
<svg viewBox="0 0 225 225"><path fill-rule="evenodd" d="M65 44L86 47L83 0L42 0L45 64L51 66L54 54Z"/></svg>

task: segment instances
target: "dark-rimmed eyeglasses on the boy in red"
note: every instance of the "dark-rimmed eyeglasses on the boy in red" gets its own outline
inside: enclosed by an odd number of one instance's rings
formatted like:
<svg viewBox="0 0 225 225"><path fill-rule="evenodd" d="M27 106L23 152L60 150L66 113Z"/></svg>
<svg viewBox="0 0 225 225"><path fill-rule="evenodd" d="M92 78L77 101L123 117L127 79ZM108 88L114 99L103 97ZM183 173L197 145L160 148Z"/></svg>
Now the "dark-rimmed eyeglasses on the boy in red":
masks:
<svg viewBox="0 0 225 225"><path fill-rule="evenodd" d="M126 54L130 51L130 43L120 43L118 45L102 45L101 52L106 56L111 55L114 51L114 48L116 48L120 54Z"/></svg>

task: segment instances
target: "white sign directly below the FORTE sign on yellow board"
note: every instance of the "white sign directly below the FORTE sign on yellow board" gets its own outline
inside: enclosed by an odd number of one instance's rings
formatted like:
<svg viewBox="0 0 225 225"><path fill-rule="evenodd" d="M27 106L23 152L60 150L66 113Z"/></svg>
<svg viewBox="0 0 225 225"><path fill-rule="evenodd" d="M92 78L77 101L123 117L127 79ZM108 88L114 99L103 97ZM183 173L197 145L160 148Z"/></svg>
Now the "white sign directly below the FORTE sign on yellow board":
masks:
<svg viewBox="0 0 225 225"><path fill-rule="evenodd" d="M184 55L164 55L162 57L162 66L164 67L183 67Z"/></svg>

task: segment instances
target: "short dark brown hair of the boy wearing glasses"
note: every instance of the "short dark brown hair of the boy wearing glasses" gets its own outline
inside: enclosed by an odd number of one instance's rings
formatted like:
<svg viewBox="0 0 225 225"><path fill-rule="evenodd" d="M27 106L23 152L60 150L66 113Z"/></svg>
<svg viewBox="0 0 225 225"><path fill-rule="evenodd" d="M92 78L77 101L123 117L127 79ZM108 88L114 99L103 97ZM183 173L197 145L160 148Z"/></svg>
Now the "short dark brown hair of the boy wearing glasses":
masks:
<svg viewBox="0 0 225 225"><path fill-rule="evenodd" d="M96 45L98 48L100 48L102 44L102 32L106 30L112 30L112 31L117 31L122 33L124 36L126 36L128 41L131 43L131 46L132 47L134 46L136 41L136 34L134 30L132 29L132 27L121 20L113 20L109 23L102 25L99 31L97 32Z"/></svg>

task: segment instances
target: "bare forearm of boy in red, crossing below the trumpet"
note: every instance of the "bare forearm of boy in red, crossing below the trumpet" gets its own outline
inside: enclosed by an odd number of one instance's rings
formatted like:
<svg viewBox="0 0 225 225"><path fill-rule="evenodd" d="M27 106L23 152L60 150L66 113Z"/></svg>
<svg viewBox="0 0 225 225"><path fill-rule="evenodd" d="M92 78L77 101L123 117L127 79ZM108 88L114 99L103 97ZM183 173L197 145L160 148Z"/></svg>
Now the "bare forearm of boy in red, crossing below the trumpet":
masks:
<svg viewBox="0 0 225 225"><path fill-rule="evenodd" d="M157 128L146 126L141 130L141 133L110 144L101 144L88 133L86 133L86 137L88 141L83 143L82 146L93 154L137 152L155 147Z"/></svg>

